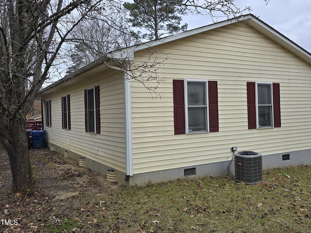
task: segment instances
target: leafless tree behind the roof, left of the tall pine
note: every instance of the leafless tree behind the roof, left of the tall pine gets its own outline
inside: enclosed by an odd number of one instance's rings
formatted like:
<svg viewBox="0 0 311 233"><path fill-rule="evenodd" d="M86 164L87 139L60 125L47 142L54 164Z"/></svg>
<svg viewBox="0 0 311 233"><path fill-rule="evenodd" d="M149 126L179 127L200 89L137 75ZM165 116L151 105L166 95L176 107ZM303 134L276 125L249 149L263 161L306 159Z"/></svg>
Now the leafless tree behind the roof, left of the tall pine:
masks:
<svg viewBox="0 0 311 233"><path fill-rule="evenodd" d="M111 25L105 18L84 21L72 30L73 48L69 50L72 65L67 74L86 66L108 52L139 44L123 15L111 14Z"/></svg>

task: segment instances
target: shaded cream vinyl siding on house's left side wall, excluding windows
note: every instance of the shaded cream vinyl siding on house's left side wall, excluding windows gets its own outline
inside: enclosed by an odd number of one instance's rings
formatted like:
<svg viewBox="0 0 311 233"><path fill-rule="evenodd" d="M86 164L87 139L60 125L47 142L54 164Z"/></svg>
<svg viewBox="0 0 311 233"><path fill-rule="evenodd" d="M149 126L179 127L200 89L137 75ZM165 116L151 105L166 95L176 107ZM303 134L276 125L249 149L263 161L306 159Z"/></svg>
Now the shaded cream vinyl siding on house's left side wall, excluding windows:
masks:
<svg viewBox="0 0 311 233"><path fill-rule="evenodd" d="M125 172L124 84L120 72L86 77L83 82L57 90L51 100L52 127L47 140L66 150ZM100 86L101 133L85 132L84 90ZM71 130L62 129L61 97L70 95Z"/></svg>

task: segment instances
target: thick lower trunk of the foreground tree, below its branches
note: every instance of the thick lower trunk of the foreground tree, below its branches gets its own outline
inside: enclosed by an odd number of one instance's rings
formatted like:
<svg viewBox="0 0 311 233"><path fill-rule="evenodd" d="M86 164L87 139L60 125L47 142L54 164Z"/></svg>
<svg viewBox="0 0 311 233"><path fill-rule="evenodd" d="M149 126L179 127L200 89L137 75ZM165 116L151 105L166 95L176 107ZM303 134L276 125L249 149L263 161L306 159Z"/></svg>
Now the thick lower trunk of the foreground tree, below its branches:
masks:
<svg viewBox="0 0 311 233"><path fill-rule="evenodd" d="M8 153L13 181L13 192L23 194L34 191L35 180L32 174L28 150L28 138L25 132L25 121L17 119L10 122L10 141L4 143Z"/></svg>

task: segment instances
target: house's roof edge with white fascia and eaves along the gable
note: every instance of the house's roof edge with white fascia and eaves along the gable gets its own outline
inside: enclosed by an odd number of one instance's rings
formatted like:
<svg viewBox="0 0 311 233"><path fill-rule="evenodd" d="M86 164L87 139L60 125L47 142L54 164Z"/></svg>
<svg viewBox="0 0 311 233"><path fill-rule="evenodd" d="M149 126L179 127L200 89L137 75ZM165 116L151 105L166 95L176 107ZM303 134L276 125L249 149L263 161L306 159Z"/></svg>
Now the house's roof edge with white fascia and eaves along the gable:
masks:
<svg viewBox="0 0 311 233"><path fill-rule="evenodd" d="M182 39L182 38L194 35L194 34L204 33L204 32L207 32L207 31L210 31L216 28L221 28L226 25L234 24L237 22L243 22L249 25L251 28L265 35L267 38L271 39L276 44L280 45L281 47L290 51L295 56L303 60L304 62L311 65L311 53L310 52L308 52L307 50L303 49L302 47L294 43L292 40L287 38L282 33L279 33L278 31L276 31L274 28L272 28L271 26L269 26L268 24L260 20L258 17L252 14L247 14L241 17L227 19L225 21L213 23L213 24L200 27L197 29L193 29L187 32L170 35L170 36L167 36L167 37L155 40L155 41L149 41L149 42L142 43L136 46L131 46L128 48L109 52L107 56L97 59L96 61L86 65L85 67L78 69L77 71L65 76L63 79L55 83L52 83L48 87L44 88L43 90L39 92L38 97L42 96L43 93L49 93L55 89L69 86L71 84L71 82L69 81L72 81L73 78L75 79L75 81L84 79L85 75L82 75L82 74L94 75L94 74L97 74L104 70L109 69L109 66L106 64L106 62L109 61L110 59L132 60L134 59L135 52L139 50L144 50L150 47L163 45L168 42L179 40L179 39Z"/></svg>

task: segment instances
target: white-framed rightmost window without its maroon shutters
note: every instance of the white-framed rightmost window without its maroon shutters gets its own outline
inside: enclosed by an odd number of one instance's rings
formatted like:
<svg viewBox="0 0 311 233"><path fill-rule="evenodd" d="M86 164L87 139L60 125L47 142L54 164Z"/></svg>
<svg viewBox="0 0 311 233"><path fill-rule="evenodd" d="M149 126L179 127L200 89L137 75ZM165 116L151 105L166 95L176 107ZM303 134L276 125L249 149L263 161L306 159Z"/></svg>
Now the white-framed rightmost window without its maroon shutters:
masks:
<svg viewBox="0 0 311 233"><path fill-rule="evenodd" d="M257 128L273 127L272 83L256 83Z"/></svg>

